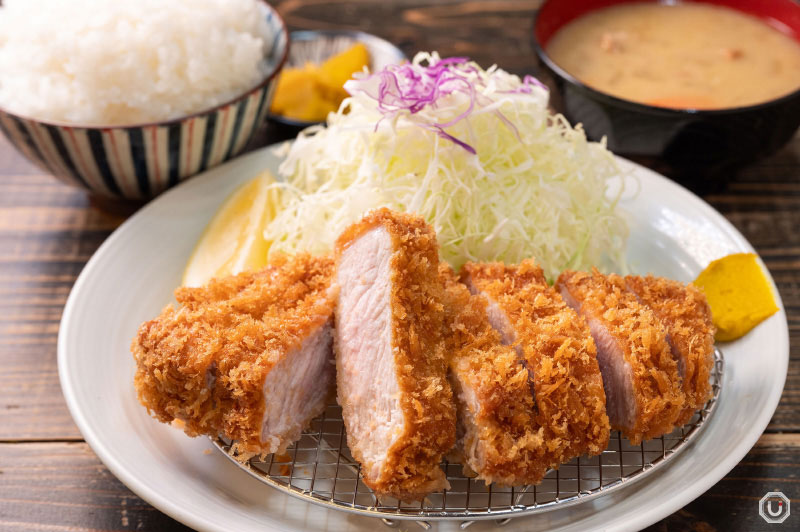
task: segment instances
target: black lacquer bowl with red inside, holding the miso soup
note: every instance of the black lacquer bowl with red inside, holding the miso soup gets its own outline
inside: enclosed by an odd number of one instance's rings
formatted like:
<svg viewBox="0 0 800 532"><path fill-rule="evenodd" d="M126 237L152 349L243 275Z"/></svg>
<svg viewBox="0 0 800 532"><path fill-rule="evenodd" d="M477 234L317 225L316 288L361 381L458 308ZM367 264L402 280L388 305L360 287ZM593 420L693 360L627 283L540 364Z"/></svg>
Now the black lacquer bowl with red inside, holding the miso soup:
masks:
<svg viewBox="0 0 800 532"><path fill-rule="evenodd" d="M560 98L558 110L582 123L611 151L654 167L694 189L707 189L747 163L783 146L800 126L800 89L762 104L719 110L668 109L620 99L584 85L545 52L567 22L600 7L630 0L547 0L534 21L536 53ZM780 23L800 40L800 3L792 0L707 0ZM559 101L560 100L560 101Z"/></svg>

